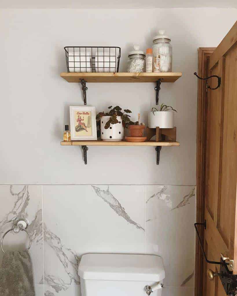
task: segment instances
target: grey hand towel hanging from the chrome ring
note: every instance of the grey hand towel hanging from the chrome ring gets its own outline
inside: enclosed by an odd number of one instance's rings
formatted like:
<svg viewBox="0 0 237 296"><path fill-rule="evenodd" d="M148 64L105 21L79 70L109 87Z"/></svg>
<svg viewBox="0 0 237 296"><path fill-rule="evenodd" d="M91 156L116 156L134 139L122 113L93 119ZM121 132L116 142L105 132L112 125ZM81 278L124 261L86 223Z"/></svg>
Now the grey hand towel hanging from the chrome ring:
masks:
<svg viewBox="0 0 237 296"><path fill-rule="evenodd" d="M35 296L28 250L4 253L0 271L0 296Z"/></svg>

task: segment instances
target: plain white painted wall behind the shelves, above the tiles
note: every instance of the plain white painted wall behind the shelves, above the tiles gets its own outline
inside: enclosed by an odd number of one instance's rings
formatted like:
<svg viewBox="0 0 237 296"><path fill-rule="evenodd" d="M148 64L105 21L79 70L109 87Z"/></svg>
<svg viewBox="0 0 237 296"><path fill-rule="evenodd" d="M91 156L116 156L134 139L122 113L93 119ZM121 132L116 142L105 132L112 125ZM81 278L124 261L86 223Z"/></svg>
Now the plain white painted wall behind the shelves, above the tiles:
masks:
<svg viewBox="0 0 237 296"><path fill-rule="evenodd" d="M0 11L1 184L195 184L197 48L217 46L236 21L236 9L2 9ZM60 78L64 46L120 46L126 71L133 43L145 50L158 28L173 45L176 83L161 85L171 104L180 147L62 147L69 106L82 105L81 87ZM141 113L155 104L153 83L90 83L88 105L111 104Z"/></svg>

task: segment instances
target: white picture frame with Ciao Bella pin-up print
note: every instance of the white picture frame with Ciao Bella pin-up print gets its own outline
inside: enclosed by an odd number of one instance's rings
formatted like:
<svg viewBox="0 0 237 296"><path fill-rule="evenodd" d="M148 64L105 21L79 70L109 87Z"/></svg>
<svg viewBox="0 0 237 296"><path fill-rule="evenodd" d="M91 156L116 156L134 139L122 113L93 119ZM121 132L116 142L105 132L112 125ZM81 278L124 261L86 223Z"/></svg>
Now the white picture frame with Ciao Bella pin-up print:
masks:
<svg viewBox="0 0 237 296"><path fill-rule="evenodd" d="M95 117L95 107L70 106L71 140L97 140Z"/></svg>

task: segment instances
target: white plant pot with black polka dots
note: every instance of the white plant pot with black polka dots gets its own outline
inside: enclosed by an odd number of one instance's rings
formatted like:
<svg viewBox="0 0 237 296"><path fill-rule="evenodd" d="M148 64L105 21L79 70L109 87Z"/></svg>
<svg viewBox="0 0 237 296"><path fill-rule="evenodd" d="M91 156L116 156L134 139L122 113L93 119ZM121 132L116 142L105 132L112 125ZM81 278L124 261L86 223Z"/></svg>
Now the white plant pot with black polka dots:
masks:
<svg viewBox="0 0 237 296"><path fill-rule="evenodd" d="M103 116L100 119L100 137L103 141L122 141L124 138L124 127L122 125L121 116L117 116L119 123L111 124L105 129L105 123L110 119L110 116Z"/></svg>

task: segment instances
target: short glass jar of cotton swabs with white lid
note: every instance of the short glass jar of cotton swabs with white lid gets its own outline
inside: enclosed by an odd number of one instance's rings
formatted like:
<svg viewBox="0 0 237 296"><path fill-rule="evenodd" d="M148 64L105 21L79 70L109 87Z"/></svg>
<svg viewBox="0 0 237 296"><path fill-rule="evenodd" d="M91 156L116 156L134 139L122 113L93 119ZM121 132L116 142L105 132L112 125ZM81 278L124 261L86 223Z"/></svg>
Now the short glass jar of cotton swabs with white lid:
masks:
<svg viewBox="0 0 237 296"><path fill-rule="evenodd" d="M129 73L142 73L145 72L145 54L139 50L138 45L134 45L134 50L129 52L128 57L128 72Z"/></svg>

